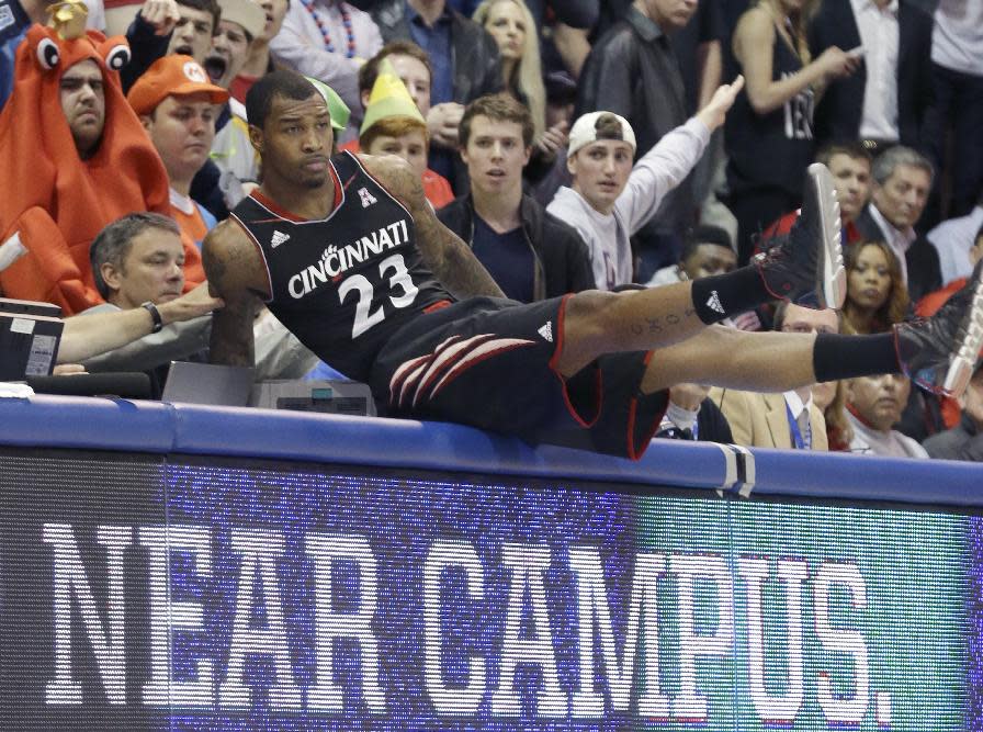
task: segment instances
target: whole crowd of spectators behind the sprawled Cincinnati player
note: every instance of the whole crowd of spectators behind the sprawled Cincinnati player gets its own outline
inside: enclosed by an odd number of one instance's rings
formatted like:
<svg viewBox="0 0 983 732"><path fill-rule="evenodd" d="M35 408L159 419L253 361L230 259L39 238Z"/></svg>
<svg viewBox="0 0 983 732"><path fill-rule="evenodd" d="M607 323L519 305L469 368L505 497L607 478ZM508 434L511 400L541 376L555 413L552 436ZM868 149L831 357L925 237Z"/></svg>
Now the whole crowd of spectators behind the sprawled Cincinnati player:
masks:
<svg viewBox="0 0 983 732"><path fill-rule="evenodd" d="M884 333L938 309L983 256L980 3L3 4L0 294L63 308L64 372L160 384L171 359L207 358L223 303L200 249L261 180L244 101L278 68L317 85L338 149L404 158L513 300L733 270L791 228L813 160L840 204L843 312L728 326ZM726 120L707 112L738 74ZM259 373L308 372L271 319ZM959 403L904 376L776 395L680 384L659 435L981 460L981 430L978 370Z"/></svg>

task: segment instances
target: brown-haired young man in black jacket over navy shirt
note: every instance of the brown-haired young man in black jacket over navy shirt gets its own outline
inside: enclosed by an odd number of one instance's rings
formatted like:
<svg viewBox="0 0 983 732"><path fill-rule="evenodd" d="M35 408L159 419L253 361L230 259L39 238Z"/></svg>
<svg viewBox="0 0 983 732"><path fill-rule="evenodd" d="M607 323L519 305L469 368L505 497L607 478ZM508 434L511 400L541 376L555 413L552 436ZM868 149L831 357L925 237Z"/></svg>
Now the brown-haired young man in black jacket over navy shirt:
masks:
<svg viewBox="0 0 983 732"><path fill-rule="evenodd" d="M508 94L468 104L460 137L471 193L438 213L505 294L520 302L595 286L580 235L522 193L532 134L529 110Z"/></svg>

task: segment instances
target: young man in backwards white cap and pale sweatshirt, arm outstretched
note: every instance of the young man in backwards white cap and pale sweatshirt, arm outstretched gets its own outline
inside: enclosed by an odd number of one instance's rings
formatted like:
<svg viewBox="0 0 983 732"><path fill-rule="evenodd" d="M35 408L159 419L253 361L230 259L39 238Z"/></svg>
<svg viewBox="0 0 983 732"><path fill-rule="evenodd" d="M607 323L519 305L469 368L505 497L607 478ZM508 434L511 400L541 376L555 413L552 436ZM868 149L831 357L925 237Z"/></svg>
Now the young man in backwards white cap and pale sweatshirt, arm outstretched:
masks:
<svg viewBox="0 0 983 732"><path fill-rule="evenodd" d="M635 133L623 116L590 112L574 123L566 160L573 187L561 188L546 211L570 224L587 243L599 290L632 282L629 238L699 162L725 113L725 108L711 102L665 135L634 167Z"/></svg>

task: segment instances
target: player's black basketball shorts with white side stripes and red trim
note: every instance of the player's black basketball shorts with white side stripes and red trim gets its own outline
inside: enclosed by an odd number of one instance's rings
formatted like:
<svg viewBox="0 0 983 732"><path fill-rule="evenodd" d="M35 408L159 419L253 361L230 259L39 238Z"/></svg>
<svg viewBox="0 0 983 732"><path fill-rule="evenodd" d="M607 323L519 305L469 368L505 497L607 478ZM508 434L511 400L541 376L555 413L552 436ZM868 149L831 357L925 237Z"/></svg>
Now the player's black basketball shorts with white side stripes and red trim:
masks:
<svg viewBox="0 0 983 732"><path fill-rule="evenodd" d="M474 297L415 318L373 367L381 412L641 458L668 403L667 392L640 391L652 352L602 356L564 379L555 363L567 297Z"/></svg>

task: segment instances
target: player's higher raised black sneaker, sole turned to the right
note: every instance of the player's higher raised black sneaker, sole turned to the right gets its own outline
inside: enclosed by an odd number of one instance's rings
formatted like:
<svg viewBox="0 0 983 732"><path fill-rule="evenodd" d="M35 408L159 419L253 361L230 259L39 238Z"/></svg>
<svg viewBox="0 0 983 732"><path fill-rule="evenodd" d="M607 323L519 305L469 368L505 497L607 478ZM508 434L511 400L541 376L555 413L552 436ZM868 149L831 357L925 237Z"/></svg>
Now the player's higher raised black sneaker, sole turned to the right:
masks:
<svg viewBox="0 0 983 732"><path fill-rule="evenodd" d="M811 307L839 308L846 297L839 202L829 169L809 166L802 212L787 237L754 263L775 297Z"/></svg>

